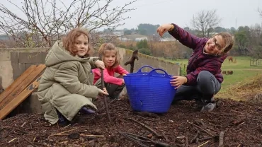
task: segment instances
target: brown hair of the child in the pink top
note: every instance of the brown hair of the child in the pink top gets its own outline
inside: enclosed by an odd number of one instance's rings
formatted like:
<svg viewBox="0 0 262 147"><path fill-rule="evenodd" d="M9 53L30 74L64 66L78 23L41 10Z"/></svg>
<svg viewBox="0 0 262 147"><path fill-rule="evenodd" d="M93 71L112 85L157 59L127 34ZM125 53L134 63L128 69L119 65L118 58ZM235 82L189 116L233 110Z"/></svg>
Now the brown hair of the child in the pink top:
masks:
<svg viewBox="0 0 262 147"><path fill-rule="evenodd" d="M120 54L118 49L112 43L104 43L103 45L101 45L101 47L98 49L98 57L103 61L106 51L112 50L115 50L115 64L113 64L112 66L112 68L115 68L120 64Z"/></svg>

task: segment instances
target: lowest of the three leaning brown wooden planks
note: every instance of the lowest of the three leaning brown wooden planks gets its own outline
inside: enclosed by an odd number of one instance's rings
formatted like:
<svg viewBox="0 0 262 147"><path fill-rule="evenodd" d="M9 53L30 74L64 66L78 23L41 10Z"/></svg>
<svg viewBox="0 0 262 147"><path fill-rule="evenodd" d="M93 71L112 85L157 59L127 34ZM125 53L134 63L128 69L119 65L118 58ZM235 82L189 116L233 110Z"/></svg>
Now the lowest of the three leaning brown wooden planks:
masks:
<svg viewBox="0 0 262 147"><path fill-rule="evenodd" d="M23 90L16 98L14 98L11 102L8 102L8 104L0 110L0 119L4 119L4 117L21 104L25 98L28 98L28 96L33 93L33 90L38 88L41 77L42 75L40 75L39 78L33 81L33 83L25 88L25 90Z"/></svg>

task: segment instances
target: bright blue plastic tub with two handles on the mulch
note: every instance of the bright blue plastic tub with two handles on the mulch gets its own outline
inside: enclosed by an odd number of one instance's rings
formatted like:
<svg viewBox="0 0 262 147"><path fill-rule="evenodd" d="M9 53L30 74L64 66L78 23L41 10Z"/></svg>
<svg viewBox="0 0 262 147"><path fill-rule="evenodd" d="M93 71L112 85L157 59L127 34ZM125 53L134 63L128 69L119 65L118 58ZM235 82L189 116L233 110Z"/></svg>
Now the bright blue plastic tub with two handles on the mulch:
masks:
<svg viewBox="0 0 262 147"><path fill-rule="evenodd" d="M149 67L152 71L142 72L144 67ZM132 110L154 113L168 112L176 89L171 86L171 75L166 71L153 69L151 66L142 66L137 73L130 73L123 77Z"/></svg>

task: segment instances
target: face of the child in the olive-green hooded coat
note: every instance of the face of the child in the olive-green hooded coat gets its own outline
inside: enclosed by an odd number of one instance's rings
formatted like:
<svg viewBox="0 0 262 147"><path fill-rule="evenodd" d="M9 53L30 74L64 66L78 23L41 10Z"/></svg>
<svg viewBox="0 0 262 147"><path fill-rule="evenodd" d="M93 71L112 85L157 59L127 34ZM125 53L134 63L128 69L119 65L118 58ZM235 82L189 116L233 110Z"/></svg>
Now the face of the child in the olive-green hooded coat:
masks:
<svg viewBox="0 0 262 147"><path fill-rule="evenodd" d="M89 51L89 38L86 35L80 35L76 37L75 46L78 50L76 53L79 57L84 57L86 53Z"/></svg>

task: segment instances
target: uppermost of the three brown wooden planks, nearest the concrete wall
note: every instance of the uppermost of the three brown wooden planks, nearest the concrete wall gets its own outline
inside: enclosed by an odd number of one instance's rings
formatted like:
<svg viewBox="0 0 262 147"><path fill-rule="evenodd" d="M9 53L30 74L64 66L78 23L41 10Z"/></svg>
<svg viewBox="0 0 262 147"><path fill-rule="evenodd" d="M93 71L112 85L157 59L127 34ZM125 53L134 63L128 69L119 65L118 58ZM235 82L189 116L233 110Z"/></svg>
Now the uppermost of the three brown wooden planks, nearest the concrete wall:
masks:
<svg viewBox="0 0 262 147"><path fill-rule="evenodd" d="M1 93L0 102L2 102L8 95L10 95L10 93L12 93L13 90L15 90L25 80L25 78L27 78L29 74L35 70L35 68L35 65L30 66L28 69L25 70L25 72L21 74L21 76L16 78L16 80L13 81L13 83L11 83L11 85L8 86L3 93Z"/></svg>

